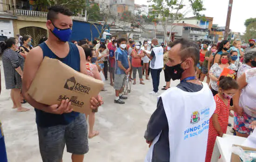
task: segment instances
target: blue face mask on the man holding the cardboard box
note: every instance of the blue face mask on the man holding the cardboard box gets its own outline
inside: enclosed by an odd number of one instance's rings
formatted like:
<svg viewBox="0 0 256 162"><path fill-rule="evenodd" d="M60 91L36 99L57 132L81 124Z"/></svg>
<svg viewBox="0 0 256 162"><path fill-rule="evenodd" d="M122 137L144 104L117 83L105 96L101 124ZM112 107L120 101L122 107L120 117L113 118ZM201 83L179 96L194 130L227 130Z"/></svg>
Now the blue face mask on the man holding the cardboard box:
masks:
<svg viewBox="0 0 256 162"><path fill-rule="evenodd" d="M54 23L52 22L54 25ZM54 30L52 31L55 37L59 38L62 42L67 42L72 34L72 30L70 28L67 29L59 29L54 25Z"/></svg>

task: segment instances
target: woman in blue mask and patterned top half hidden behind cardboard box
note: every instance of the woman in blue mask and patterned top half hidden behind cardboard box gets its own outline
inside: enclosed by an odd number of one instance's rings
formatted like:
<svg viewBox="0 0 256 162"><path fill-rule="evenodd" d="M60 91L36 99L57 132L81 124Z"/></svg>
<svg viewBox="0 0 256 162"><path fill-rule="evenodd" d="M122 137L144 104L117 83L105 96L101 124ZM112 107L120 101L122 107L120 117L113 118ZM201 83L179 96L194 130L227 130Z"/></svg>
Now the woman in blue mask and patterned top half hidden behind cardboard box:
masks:
<svg viewBox="0 0 256 162"><path fill-rule="evenodd" d="M99 73L99 69L97 67L97 65L93 64L93 62L96 62L97 60L97 56L96 53L94 51L94 49L91 48L85 48L84 49L85 55L86 55L86 70L87 70L87 75L101 80L101 75ZM90 114L86 114L86 117L88 117L89 115L89 134L88 134L88 138L93 138L95 136L99 135L98 131L94 131L94 123L95 123L95 112L91 112ZM88 119L88 118L87 118Z"/></svg>

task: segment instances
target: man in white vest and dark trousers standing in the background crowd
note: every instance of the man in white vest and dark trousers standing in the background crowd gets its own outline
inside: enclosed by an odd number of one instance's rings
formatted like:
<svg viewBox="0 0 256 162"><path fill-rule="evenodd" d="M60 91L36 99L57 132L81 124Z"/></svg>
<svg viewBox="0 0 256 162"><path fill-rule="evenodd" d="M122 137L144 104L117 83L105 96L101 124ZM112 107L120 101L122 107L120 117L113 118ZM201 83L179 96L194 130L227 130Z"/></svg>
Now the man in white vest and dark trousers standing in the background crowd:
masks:
<svg viewBox="0 0 256 162"><path fill-rule="evenodd" d="M157 38L152 39L151 45L153 46L151 54L146 54L151 60L149 67L153 82L153 91L149 94L158 95L160 73L163 68L163 48L159 45Z"/></svg>

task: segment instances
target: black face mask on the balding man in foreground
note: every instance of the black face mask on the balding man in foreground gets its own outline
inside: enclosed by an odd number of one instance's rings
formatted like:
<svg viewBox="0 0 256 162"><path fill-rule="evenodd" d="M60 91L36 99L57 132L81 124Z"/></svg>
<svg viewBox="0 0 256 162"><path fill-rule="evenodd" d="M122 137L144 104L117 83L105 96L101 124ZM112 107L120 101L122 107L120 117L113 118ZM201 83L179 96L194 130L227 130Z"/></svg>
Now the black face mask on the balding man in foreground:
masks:
<svg viewBox="0 0 256 162"><path fill-rule="evenodd" d="M184 72L184 69L182 69L181 67L182 62L175 66L165 66L165 69L167 70L168 74L170 75L173 81L181 79L182 77L182 73Z"/></svg>

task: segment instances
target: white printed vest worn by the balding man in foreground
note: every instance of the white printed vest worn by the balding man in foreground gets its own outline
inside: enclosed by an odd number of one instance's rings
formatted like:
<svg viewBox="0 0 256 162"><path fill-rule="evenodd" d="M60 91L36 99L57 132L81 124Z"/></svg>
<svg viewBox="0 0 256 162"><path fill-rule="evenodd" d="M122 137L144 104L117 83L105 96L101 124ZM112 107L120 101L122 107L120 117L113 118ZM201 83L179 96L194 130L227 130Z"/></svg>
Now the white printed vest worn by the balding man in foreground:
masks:
<svg viewBox="0 0 256 162"><path fill-rule="evenodd" d="M207 84L199 92L185 92L177 87L162 93L169 126L170 162L204 162L207 149L209 119L216 103ZM151 162L155 137L145 162Z"/></svg>

